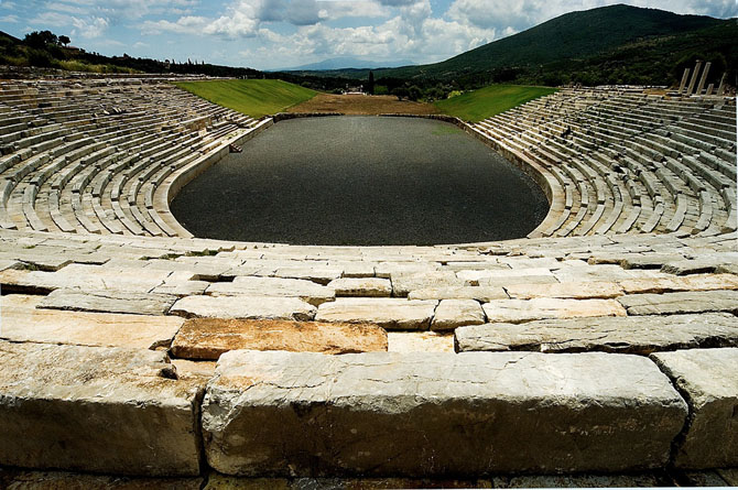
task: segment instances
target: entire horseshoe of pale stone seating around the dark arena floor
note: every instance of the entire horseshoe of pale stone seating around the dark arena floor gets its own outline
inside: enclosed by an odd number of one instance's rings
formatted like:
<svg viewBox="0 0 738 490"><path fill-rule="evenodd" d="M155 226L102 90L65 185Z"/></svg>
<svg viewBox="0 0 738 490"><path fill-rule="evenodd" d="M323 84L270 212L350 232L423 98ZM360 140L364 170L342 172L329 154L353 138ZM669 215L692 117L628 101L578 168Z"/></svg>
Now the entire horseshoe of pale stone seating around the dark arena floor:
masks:
<svg viewBox="0 0 738 490"><path fill-rule="evenodd" d="M0 487L738 484L735 99L462 124L545 192L528 238L192 237L169 203L272 123L0 84Z"/></svg>

